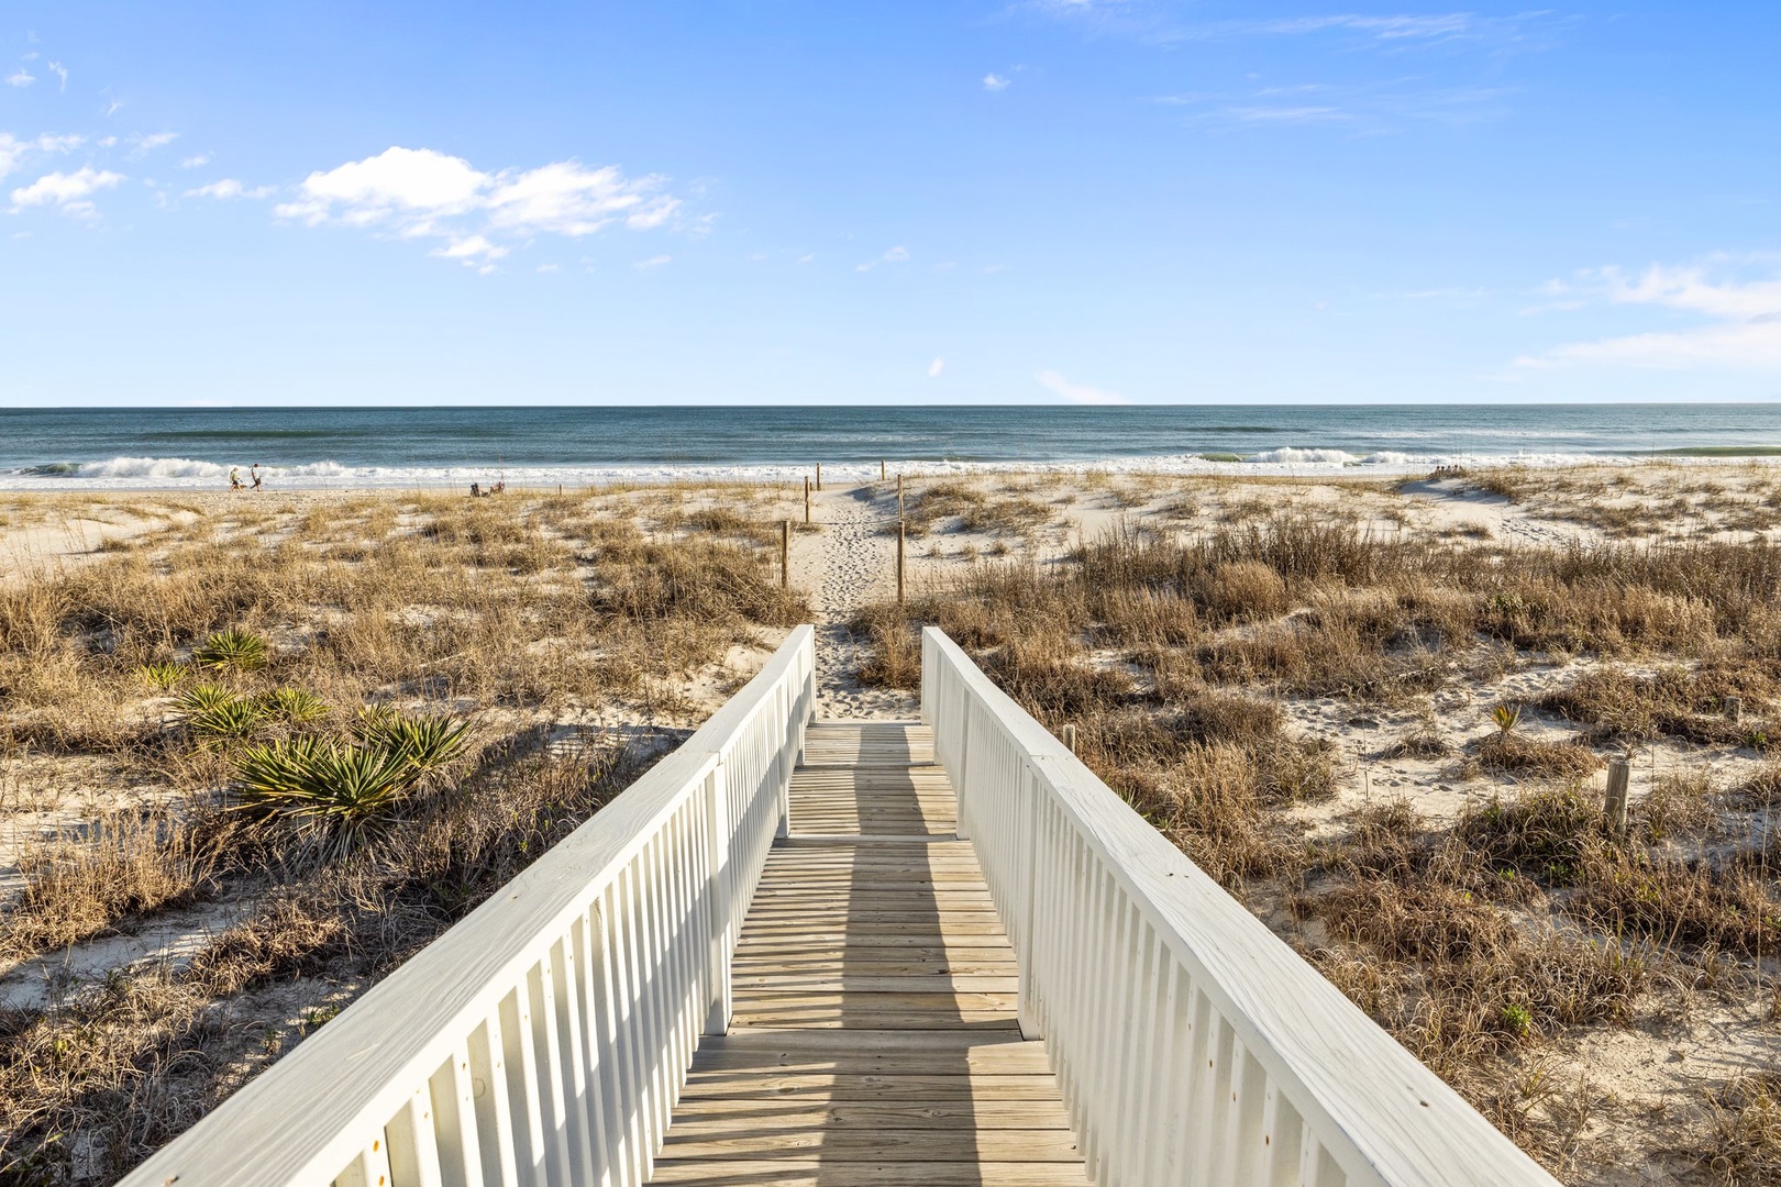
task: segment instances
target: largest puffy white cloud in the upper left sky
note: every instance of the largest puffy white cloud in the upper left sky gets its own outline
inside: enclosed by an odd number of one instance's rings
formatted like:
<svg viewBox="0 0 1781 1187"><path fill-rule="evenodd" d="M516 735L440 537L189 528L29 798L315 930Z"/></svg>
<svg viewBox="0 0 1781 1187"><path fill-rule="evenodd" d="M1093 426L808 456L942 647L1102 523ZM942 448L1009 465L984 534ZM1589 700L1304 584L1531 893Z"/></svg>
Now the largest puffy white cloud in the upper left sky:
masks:
<svg viewBox="0 0 1781 1187"><path fill-rule="evenodd" d="M538 169L484 173L461 157L431 148L390 148L365 160L317 171L297 198L274 214L310 226L362 226L403 238L442 237L451 244L490 235L581 238L623 224L634 231L668 226L680 199L664 178L625 176L616 166L590 169L559 160ZM452 247L435 253L447 258ZM481 258L492 258L483 253Z"/></svg>

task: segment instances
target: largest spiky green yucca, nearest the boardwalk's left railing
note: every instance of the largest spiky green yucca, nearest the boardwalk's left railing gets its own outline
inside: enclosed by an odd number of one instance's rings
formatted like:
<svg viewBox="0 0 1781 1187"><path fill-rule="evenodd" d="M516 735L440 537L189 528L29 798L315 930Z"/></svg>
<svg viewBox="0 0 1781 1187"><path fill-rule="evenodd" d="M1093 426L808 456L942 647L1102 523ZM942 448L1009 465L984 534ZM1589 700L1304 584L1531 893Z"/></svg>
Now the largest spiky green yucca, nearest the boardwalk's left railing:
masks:
<svg viewBox="0 0 1781 1187"><path fill-rule="evenodd" d="M420 772L394 751L296 737L235 760L237 808L271 813L349 851L381 831Z"/></svg>

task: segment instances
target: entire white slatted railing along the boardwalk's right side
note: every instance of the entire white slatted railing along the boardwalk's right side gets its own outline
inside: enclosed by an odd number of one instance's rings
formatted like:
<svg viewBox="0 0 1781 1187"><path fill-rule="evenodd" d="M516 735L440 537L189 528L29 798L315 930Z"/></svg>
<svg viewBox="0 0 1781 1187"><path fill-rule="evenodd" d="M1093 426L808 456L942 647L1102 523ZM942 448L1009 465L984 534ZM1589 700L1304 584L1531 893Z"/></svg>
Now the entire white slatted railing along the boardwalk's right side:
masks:
<svg viewBox="0 0 1781 1187"><path fill-rule="evenodd" d="M940 630L921 715L1102 1185L1553 1180Z"/></svg>

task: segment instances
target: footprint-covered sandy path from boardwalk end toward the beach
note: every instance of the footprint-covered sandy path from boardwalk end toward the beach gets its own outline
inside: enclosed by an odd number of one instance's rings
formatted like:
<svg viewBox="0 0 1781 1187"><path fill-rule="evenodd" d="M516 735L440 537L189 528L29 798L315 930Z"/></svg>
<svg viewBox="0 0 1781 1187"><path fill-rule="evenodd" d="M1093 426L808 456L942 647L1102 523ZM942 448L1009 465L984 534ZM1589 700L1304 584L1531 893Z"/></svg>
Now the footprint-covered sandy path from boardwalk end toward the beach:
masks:
<svg viewBox="0 0 1781 1187"><path fill-rule="evenodd" d="M830 488L810 513L819 529L796 537L791 569L816 609L816 714L914 721L915 696L860 685L864 648L848 630L862 605L896 596L896 536L885 532L896 523L894 488Z"/></svg>

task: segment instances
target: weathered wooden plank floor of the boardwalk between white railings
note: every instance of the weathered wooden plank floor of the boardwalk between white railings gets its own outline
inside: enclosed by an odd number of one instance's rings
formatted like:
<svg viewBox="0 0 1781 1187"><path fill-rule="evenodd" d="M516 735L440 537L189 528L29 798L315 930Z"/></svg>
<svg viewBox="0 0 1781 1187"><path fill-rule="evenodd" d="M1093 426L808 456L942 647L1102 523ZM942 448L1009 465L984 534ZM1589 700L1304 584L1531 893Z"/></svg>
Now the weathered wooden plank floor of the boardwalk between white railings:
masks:
<svg viewBox="0 0 1781 1187"><path fill-rule="evenodd" d="M816 723L654 1183L1081 1187L931 735Z"/></svg>

